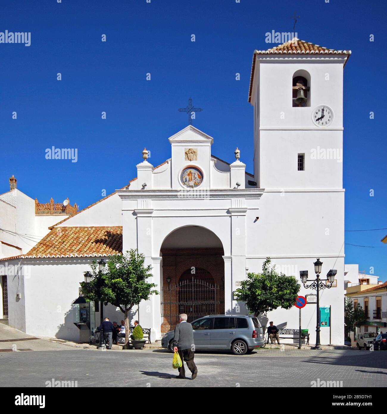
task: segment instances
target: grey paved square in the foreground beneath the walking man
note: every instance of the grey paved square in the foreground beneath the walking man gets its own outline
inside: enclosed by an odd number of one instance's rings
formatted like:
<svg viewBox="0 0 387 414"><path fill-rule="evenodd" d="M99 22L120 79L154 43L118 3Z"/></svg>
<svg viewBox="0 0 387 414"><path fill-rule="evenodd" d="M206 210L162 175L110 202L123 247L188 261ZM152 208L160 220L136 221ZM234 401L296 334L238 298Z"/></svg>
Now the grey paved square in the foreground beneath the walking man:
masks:
<svg viewBox="0 0 387 414"><path fill-rule="evenodd" d="M355 350L273 349L245 356L198 352L199 372L192 381L174 378L177 371L168 351L67 347L55 352L0 353L0 384L45 387L54 378L77 381L78 387L311 387L312 381L335 381L342 387L386 387L386 356L385 351Z"/></svg>

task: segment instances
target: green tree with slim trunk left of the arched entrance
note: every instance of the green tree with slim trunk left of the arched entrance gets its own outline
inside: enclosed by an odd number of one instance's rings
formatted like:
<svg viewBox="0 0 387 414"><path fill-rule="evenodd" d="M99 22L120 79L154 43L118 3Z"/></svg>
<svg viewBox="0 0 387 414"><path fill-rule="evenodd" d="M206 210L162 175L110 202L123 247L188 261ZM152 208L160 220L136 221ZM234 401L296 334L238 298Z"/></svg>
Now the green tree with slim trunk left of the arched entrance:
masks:
<svg viewBox="0 0 387 414"><path fill-rule="evenodd" d="M91 281L82 282L82 294L87 301L111 303L125 314L125 347L129 342L129 314L133 306L147 301L151 295L158 295L154 283L148 283L152 276L151 265L144 266L144 255L131 249L124 255L109 256L107 268L102 273L97 270L97 262L91 264Z"/></svg>

